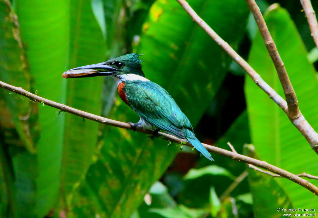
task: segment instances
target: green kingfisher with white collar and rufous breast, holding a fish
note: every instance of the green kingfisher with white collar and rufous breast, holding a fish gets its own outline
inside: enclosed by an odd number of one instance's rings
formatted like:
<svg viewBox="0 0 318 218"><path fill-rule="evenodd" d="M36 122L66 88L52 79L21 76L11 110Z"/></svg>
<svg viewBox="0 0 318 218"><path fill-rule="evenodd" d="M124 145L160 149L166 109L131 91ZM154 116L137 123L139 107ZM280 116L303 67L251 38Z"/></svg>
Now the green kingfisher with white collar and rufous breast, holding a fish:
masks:
<svg viewBox="0 0 318 218"><path fill-rule="evenodd" d="M169 93L158 84L145 78L142 60L139 54L126 54L109 59L103 63L77 67L63 73L64 78L82 78L110 76L117 83L119 97L139 116L138 123L131 123L131 128L149 128L163 130L175 137L186 139L201 154L213 160L193 132L187 116L181 111Z"/></svg>

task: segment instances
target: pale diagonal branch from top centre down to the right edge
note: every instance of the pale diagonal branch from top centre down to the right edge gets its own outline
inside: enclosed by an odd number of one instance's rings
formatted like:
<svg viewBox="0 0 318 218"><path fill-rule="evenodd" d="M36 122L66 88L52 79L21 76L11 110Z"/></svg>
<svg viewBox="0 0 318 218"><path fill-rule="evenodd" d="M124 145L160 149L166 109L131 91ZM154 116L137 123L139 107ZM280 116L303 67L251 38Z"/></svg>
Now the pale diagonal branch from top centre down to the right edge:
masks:
<svg viewBox="0 0 318 218"><path fill-rule="evenodd" d="M226 53L228 53L232 59L241 66L246 73L252 78L256 85L259 86L289 117L289 120L294 124L294 126L301 132L301 134L306 138L311 148L318 154L318 134L310 126L305 117L299 113L298 117L291 118L288 112L288 106L285 100L271 88L259 74L241 57L234 49L229 46L216 32L214 32L209 25L207 25L203 19L201 19L197 13L190 7L190 5L185 0L176 0L187 13L191 16L193 21L195 21L206 33L211 36L211 38L221 46ZM290 103L290 102L289 102ZM298 108L298 106L297 106Z"/></svg>

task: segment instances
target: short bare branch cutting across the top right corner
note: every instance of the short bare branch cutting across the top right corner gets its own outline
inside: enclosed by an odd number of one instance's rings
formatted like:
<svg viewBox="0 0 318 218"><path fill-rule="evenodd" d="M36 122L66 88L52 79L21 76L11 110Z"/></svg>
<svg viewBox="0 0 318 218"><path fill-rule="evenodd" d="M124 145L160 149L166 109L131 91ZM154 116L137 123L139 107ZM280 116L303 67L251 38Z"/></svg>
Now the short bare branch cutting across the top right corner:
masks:
<svg viewBox="0 0 318 218"><path fill-rule="evenodd" d="M311 36L314 38L316 47L318 48L318 23L316 13L313 9L313 6L311 5L310 0L300 0L300 2L307 17Z"/></svg>

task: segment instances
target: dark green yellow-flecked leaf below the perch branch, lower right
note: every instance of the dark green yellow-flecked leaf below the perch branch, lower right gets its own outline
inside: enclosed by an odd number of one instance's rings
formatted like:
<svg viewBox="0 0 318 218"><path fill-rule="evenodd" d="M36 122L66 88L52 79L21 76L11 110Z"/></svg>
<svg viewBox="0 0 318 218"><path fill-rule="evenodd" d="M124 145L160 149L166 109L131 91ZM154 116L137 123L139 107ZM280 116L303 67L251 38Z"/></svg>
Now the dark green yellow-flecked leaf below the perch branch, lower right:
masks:
<svg viewBox="0 0 318 218"><path fill-rule="evenodd" d="M245 145L245 149L245 155L259 159L258 156L248 154L251 151L255 152L253 146ZM278 217L281 216L282 212L277 212L277 208L293 208L288 193L273 177L248 166L246 168L248 169L248 181L253 197L252 207L255 217Z"/></svg>

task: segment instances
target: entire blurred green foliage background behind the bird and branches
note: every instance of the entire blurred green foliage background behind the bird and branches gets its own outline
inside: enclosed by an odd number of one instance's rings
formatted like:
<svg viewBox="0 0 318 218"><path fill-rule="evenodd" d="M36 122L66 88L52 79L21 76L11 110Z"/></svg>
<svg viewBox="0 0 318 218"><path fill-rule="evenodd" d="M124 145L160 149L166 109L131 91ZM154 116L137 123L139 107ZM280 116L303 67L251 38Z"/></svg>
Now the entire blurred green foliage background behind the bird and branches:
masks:
<svg viewBox="0 0 318 218"><path fill-rule="evenodd" d="M188 2L282 95L244 1ZM300 2L275 2L257 1L300 109L317 129L317 49ZM287 116L175 0L0 0L1 81L135 122L111 78L61 77L69 68L132 52L145 54L146 77L175 98L202 142L229 149L230 141L239 153L253 143L256 154L247 155L318 175L316 155ZM303 187L235 160L214 154L211 163L188 147L178 152L161 139L2 89L0 95L0 217L280 217L277 207L317 205Z"/></svg>

